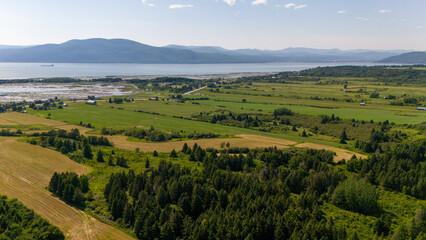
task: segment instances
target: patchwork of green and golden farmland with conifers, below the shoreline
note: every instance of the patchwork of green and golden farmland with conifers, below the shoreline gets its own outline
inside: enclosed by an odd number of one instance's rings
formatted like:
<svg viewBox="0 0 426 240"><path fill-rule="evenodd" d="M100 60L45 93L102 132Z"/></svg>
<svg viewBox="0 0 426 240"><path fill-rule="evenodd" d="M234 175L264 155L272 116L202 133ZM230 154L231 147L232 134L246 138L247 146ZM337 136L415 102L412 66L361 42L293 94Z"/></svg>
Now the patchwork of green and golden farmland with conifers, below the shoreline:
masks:
<svg viewBox="0 0 426 240"><path fill-rule="evenodd" d="M367 70L132 80L96 105L15 106L0 114L0 194L70 239L421 236L425 84ZM67 171L88 176L78 199L55 197Z"/></svg>

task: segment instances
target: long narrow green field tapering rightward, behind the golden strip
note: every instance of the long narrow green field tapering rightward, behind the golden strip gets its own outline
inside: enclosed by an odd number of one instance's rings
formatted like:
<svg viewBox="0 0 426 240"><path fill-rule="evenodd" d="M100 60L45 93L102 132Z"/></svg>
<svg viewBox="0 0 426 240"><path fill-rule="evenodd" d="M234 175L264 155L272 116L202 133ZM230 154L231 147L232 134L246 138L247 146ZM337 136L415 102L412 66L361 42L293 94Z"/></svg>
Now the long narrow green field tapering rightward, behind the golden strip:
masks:
<svg viewBox="0 0 426 240"><path fill-rule="evenodd" d="M183 131L187 133L197 132L214 132L221 135L238 135L238 134L254 134L266 137L274 137L286 139L295 142L311 142L323 144L332 147L344 147L336 142L324 140L304 138L290 134L275 134L268 132L255 131L246 128L238 128L232 126L224 126L219 124L211 124L207 122L192 121L170 116L153 115L129 110L120 110L106 106L92 106L84 103L70 103L70 107L66 109L53 109L48 111L28 111L31 114L40 117L47 117L51 114L54 120L69 122L71 124L91 123L97 129L107 128L129 128L129 127L151 127L167 131Z"/></svg>

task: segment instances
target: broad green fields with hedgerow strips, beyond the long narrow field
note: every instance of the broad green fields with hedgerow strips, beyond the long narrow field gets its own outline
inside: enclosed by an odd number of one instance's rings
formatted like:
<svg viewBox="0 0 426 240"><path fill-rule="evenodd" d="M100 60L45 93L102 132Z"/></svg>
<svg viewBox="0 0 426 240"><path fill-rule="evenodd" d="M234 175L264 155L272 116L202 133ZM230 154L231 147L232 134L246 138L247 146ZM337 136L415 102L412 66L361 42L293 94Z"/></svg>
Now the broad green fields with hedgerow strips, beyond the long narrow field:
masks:
<svg viewBox="0 0 426 240"><path fill-rule="evenodd" d="M323 84L315 81L282 83L231 83L231 89L221 88L221 92L203 89L202 96L187 95L193 100L186 103L171 101L141 101L120 105L101 102L103 106L114 106L132 111L155 112L167 116L190 117L193 113L226 109L233 112L273 112L280 107L288 107L301 114L322 115L335 114L344 119L357 120L389 120L396 124L417 124L424 122L426 113L417 111L415 106L394 106L394 100L383 97L394 95L398 101L405 97L422 98L425 88L417 85L386 85L366 78L322 78ZM324 84L326 83L326 84ZM345 89L343 86L347 85ZM358 90L362 92L357 92ZM214 90L214 89L213 89ZM378 92L379 98L370 98L370 94ZM160 98L167 98L169 93L158 92ZM145 97L145 95L144 95ZM152 97L152 96L151 96ZM209 100L196 100L207 97ZM312 100L319 97L321 100ZM136 97L136 99L140 99ZM242 99L247 102L243 103ZM331 100L334 99L334 100ZM346 100L352 102L346 102ZM423 98L424 99L424 98ZM360 106L360 102L366 106ZM423 100L424 101L424 100ZM197 103L197 104L193 104ZM420 104L422 104L420 102ZM424 104L424 103L423 103Z"/></svg>

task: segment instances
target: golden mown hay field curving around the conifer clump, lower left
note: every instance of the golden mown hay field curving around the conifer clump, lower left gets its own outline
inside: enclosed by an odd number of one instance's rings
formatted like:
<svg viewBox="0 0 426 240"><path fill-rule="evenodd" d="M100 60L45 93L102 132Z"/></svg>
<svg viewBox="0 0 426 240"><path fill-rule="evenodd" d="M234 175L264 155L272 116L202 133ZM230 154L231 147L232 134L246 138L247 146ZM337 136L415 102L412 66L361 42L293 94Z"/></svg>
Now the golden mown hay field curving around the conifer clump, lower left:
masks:
<svg viewBox="0 0 426 240"><path fill-rule="evenodd" d="M23 202L58 226L67 239L133 239L65 204L45 189L55 171L87 174L90 167L53 150L16 140L0 138L0 194Z"/></svg>

